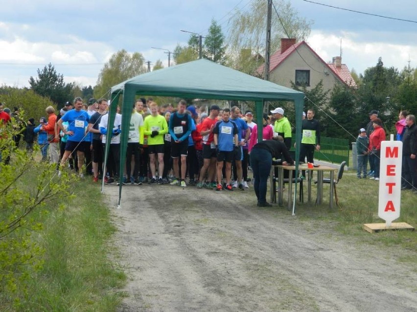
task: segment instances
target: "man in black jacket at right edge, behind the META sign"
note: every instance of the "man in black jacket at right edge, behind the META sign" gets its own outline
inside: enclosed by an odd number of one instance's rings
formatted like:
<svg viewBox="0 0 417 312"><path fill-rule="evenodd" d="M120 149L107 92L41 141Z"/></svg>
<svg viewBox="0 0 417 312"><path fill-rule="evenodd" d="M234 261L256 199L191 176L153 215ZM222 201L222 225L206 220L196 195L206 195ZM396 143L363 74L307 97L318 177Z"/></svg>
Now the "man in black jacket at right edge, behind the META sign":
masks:
<svg viewBox="0 0 417 312"><path fill-rule="evenodd" d="M402 187L417 191L417 126L416 116L408 115L405 119L407 128L402 138Z"/></svg>

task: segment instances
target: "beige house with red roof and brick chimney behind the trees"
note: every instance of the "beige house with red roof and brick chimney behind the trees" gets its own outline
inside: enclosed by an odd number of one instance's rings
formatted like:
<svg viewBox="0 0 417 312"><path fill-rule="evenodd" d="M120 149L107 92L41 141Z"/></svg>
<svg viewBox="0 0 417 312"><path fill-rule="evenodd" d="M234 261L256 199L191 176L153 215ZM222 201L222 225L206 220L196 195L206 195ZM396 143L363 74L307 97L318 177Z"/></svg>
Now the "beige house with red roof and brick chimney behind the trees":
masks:
<svg viewBox="0 0 417 312"><path fill-rule="evenodd" d="M257 69L264 73L264 65ZM324 60L305 42L296 43L295 39L281 39L281 48L271 56L269 80L278 85L291 88L291 82L297 86L305 84L307 89L314 88L323 80L324 90L333 89L335 84L346 84L357 88L342 57L333 57L332 63Z"/></svg>

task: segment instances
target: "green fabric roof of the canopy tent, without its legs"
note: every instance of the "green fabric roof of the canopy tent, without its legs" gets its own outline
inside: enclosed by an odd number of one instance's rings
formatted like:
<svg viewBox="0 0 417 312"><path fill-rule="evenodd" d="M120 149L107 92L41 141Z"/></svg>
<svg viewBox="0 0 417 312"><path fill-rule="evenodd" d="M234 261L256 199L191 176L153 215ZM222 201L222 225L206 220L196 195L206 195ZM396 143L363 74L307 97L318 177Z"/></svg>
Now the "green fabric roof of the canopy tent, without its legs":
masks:
<svg viewBox="0 0 417 312"><path fill-rule="evenodd" d="M143 95L224 100L294 101L304 97L302 92L205 59L141 74L114 86L112 93L126 88Z"/></svg>

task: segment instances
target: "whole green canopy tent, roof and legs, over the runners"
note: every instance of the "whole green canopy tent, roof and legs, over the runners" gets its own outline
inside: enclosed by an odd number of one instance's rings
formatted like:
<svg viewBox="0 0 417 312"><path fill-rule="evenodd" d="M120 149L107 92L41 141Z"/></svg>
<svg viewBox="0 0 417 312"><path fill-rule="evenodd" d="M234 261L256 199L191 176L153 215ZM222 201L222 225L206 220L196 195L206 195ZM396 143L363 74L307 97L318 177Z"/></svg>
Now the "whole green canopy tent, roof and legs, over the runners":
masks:
<svg viewBox="0 0 417 312"><path fill-rule="evenodd" d="M298 173L301 115L304 106L304 93L302 92L278 86L272 82L247 75L209 60L200 59L174 67L148 72L114 86L111 89L111 105L109 111L109 125L112 126L116 116L116 105L112 105L112 103L118 103L120 95L123 95L120 134L120 173L124 169L130 117L136 95L254 101L257 116L256 123L259 127L262 127L262 108L265 101L293 101L296 112L297 148L295 160L296 172ZM111 128L108 126L108 129ZM258 132L258 135L259 140L262 140L261 131ZM110 138L108 135L105 163L107 162ZM118 207L120 207L121 191L122 183L120 183L119 188ZM295 193L297 193L297 184ZM295 204L293 207L294 213Z"/></svg>

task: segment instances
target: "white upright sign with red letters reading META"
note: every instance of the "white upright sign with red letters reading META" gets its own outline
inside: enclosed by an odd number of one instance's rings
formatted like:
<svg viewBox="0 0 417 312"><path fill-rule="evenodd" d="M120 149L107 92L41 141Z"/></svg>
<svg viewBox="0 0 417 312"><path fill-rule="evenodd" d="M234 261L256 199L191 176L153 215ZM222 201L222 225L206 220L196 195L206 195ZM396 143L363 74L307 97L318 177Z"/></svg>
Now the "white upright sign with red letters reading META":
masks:
<svg viewBox="0 0 417 312"><path fill-rule="evenodd" d="M401 160L402 142L390 141L381 143L381 164L379 174L378 217L385 220L385 226L399 218L401 205Z"/></svg>

